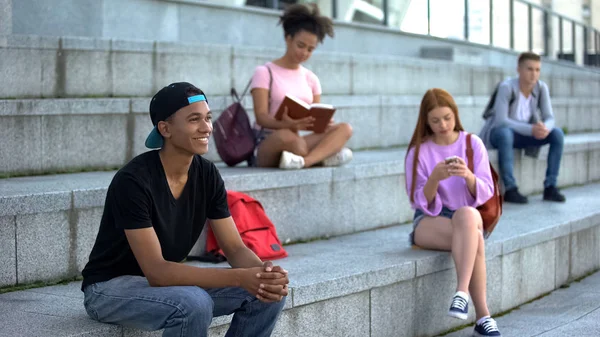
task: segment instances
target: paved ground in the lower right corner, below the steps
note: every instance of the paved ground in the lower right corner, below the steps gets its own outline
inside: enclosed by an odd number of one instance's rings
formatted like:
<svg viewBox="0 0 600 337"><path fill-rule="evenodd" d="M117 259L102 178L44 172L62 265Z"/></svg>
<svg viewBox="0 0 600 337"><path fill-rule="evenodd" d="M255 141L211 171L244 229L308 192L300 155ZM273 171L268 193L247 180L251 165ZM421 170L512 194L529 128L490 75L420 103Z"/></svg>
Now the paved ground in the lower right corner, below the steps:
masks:
<svg viewBox="0 0 600 337"><path fill-rule="evenodd" d="M497 318L503 337L599 337L600 272ZM446 335L467 337L473 327Z"/></svg>

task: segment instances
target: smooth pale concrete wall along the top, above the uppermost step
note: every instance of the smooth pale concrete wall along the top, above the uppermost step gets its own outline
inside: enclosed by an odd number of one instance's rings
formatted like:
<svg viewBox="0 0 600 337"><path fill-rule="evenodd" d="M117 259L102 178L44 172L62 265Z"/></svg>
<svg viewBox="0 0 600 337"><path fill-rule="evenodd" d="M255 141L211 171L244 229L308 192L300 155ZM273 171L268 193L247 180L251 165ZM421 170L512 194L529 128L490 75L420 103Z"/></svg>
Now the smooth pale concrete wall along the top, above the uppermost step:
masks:
<svg viewBox="0 0 600 337"><path fill-rule="evenodd" d="M282 29L277 26L279 13L272 10L199 0L57 0L52 5L35 0L2 1L4 8L12 7L0 12L0 22L8 26L4 31L9 34L283 46ZM515 63L516 53L503 49L345 22L336 22L335 39L326 39L320 49L418 57L426 46L464 48L477 54L485 65Z"/></svg>

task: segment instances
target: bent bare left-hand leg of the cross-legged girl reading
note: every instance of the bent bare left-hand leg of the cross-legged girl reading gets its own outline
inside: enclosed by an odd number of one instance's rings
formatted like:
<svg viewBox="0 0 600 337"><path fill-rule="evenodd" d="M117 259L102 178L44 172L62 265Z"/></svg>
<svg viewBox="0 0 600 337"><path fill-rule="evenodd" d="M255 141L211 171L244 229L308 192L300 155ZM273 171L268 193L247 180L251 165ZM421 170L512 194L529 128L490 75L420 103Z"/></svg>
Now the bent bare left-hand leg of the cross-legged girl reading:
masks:
<svg viewBox="0 0 600 337"><path fill-rule="evenodd" d="M308 154L308 145L303 137L292 130L276 130L260 143L257 153L258 166L277 167L283 151L304 157Z"/></svg>

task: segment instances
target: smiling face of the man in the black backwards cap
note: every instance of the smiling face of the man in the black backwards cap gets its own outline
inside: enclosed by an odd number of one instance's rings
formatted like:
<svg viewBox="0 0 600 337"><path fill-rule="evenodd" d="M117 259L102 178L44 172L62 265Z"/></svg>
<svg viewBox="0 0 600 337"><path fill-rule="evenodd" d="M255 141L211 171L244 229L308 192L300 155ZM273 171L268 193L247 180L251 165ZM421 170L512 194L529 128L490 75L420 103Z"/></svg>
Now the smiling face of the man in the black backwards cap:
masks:
<svg viewBox="0 0 600 337"><path fill-rule="evenodd" d="M165 145L190 155L203 155L208 152L208 138L212 133L212 113L206 101L185 106L158 128Z"/></svg>

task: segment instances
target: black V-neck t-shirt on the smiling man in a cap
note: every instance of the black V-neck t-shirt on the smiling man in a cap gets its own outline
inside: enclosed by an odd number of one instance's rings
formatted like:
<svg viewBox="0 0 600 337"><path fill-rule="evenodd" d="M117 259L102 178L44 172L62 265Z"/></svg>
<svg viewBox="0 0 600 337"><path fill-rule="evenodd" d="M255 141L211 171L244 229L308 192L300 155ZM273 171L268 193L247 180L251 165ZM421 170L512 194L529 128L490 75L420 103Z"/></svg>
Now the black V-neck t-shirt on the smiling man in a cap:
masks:
<svg viewBox="0 0 600 337"><path fill-rule="evenodd" d="M229 216L225 184L213 163L194 156L185 187L175 199L158 151L143 153L121 168L108 187L81 288L122 275L144 276L125 229L154 227L164 259L181 262L198 240L207 218Z"/></svg>

